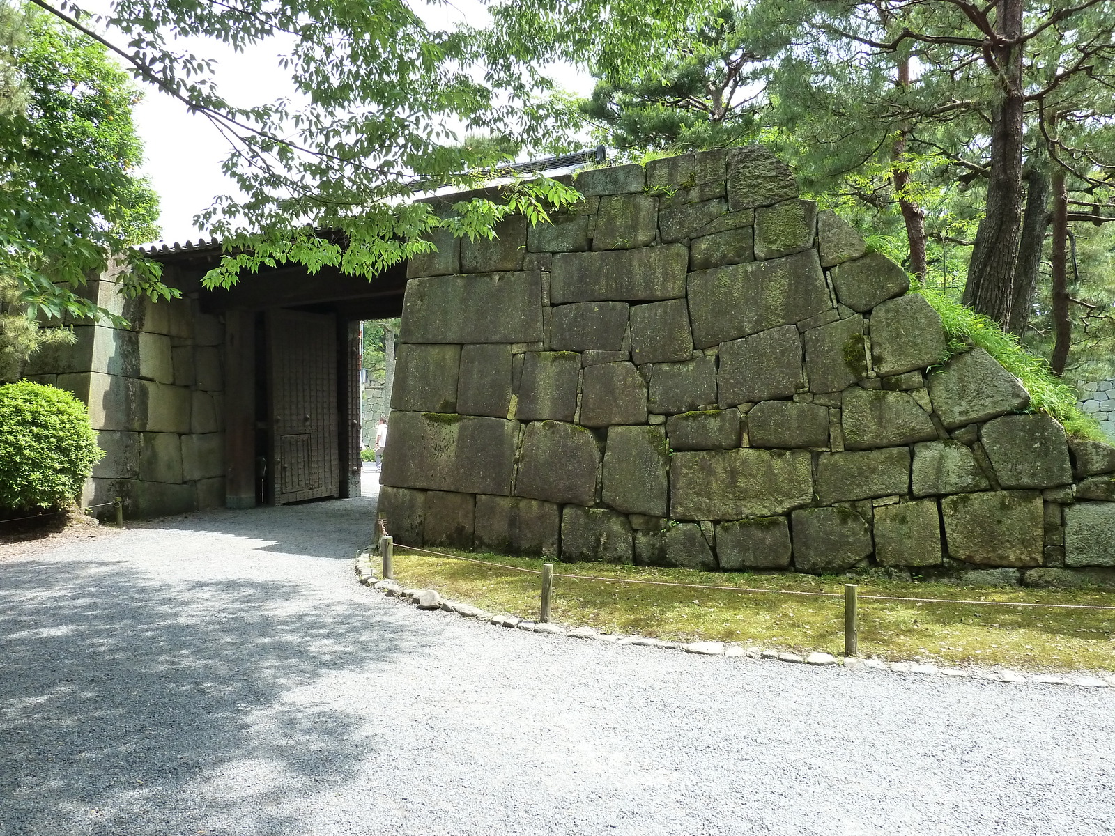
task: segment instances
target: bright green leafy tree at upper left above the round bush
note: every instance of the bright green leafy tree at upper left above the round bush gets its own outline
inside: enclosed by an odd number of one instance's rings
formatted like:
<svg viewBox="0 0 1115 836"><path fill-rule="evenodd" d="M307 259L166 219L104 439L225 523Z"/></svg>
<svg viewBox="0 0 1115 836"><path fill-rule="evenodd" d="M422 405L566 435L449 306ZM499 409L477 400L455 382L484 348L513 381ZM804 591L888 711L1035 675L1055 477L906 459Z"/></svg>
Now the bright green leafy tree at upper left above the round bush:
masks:
<svg viewBox="0 0 1115 836"><path fill-rule="evenodd" d="M0 274L28 315L106 314L77 291L117 260L130 297L175 294L132 245L157 235L158 202L136 169L138 93L105 48L35 7L0 3Z"/></svg>

